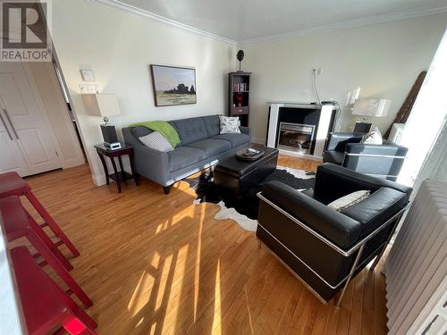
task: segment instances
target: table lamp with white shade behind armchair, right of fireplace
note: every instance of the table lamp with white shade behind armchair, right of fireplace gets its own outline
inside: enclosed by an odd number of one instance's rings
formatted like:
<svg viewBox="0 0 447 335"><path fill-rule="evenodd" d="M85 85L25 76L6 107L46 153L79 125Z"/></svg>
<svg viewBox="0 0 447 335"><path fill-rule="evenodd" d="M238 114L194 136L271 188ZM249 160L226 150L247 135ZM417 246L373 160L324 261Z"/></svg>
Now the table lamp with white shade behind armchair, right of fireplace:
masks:
<svg viewBox="0 0 447 335"><path fill-rule="evenodd" d="M363 121L356 122L354 132L367 133L371 129L371 122L368 117L381 117L388 114L391 100L389 99L356 99L352 114L364 116Z"/></svg>

